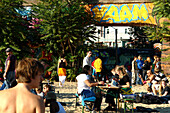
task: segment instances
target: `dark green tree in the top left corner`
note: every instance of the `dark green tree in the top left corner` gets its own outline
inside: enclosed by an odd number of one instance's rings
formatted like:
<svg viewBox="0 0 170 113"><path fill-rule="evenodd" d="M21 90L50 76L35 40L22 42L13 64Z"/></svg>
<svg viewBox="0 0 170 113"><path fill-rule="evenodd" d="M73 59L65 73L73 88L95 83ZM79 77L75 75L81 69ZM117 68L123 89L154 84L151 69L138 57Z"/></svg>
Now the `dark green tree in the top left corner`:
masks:
<svg viewBox="0 0 170 113"><path fill-rule="evenodd" d="M38 42L38 36L34 29L29 29L29 22L17 13L16 9L23 11L23 0L1 0L0 1L0 51L6 47L14 49L18 58L30 54L31 47ZM5 59L5 54L0 54Z"/></svg>

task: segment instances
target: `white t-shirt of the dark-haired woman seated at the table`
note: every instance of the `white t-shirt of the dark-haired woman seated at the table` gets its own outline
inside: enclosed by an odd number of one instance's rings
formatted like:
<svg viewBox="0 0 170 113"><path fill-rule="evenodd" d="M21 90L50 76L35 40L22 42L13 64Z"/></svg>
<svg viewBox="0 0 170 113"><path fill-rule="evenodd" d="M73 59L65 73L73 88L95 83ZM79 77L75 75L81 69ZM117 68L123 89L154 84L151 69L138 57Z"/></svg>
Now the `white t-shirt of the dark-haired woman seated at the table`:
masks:
<svg viewBox="0 0 170 113"><path fill-rule="evenodd" d="M77 85L78 85L78 87L77 87L77 89L78 89L78 94L80 94L82 91L83 91L83 89L89 89L90 90L90 87L89 86L87 86L86 84L85 84L85 80L89 80L89 77L88 77L88 75L86 75L86 74L80 74L80 75L78 75L77 77L76 77L76 79L77 79Z"/></svg>

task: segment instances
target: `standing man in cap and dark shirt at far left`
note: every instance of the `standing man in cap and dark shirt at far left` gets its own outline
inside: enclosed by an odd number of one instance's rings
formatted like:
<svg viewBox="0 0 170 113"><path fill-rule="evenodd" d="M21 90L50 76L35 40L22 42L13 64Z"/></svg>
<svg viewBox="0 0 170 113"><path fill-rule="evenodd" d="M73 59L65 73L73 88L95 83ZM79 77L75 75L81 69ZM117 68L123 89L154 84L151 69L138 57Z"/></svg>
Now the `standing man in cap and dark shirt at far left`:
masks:
<svg viewBox="0 0 170 113"><path fill-rule="evenodd" d="M15 80L15 65L16 57L13 55L12 49L7 48L6 50L7 59L5 61L5 70L3 77L6 80L7 84L6 89L11 87L11 83Z"/></svg>

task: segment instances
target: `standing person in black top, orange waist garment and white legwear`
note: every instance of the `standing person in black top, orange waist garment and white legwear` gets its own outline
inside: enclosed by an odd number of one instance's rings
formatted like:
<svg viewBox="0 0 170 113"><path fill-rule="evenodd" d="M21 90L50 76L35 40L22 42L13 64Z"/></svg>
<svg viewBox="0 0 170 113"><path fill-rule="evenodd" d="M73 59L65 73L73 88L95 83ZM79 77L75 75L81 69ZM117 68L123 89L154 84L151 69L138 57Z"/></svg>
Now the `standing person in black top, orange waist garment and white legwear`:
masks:
<svg viewBox="0 0 170 113"><path fill-rule="evenodd" d="M62 55L61 58L58 61L58 76L59 76L59 86L63 87L63 84L66 79L66 66L67 66L67 61L65 59L65 56Z"/></svg>

